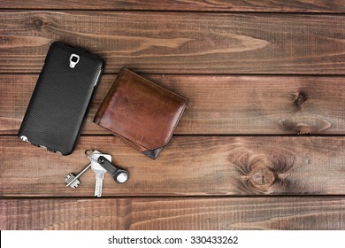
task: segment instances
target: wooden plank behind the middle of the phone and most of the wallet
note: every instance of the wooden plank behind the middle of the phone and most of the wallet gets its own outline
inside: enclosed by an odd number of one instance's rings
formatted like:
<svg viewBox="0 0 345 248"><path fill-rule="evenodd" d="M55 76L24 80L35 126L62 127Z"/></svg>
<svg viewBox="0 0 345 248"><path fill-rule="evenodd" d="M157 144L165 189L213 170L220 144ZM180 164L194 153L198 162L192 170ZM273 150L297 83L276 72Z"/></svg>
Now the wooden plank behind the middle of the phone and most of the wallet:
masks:
<svg viewBox="0 0 345 248"><path fill-rule="evenodd" d="M145 75L188 97L175 134L345 134L344 77ZM115 74L100 83L84 134L109 134L92 123ZM37 74L0 74L0 134L17 134Z"/></svg>

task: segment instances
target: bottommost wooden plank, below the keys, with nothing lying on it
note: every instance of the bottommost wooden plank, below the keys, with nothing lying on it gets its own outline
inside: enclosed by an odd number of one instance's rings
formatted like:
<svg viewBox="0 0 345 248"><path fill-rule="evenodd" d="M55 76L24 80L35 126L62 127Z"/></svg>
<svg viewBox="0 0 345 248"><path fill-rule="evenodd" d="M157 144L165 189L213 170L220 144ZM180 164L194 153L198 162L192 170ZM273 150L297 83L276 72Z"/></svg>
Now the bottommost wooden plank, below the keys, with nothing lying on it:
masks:
<svg viewBox="0 0 345 248"><path fill-rule="evenodd" d="M345 198L2 199L1 229L345 229Z"/></svg>

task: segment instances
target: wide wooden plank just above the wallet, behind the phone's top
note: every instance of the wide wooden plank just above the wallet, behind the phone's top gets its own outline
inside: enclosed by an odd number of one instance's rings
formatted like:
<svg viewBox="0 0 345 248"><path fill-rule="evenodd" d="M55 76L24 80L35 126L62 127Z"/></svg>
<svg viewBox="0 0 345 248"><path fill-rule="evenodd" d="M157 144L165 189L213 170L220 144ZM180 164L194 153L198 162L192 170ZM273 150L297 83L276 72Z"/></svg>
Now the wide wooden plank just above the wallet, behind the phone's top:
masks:
<svg viewBox="0 0 345 248"><path fill-rule="evenodd" d="M344 74L345 16L0 12L0 73L38 73L55 40L147 74Z"/></svg>

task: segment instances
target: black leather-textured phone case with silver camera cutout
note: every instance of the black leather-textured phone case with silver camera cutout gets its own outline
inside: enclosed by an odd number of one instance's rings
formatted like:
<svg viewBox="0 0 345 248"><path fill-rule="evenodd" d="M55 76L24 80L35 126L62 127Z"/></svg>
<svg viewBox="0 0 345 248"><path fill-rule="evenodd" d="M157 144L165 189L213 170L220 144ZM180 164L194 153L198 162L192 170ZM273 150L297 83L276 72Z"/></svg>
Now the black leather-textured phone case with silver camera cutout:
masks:
<svg viewBox="0 0 345 248"><path fill-rule="evenodd" d="M72 153L102 72L99 56L52 43L19 137L49 151Z"/></svg>

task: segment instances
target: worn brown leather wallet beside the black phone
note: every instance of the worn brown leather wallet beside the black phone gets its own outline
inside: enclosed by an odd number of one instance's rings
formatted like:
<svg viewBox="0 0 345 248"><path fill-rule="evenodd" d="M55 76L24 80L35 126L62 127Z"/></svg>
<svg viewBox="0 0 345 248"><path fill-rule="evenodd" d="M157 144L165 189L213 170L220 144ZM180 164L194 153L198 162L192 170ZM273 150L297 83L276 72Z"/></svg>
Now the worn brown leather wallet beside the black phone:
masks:
<svg viewBox="0 0 345 248"><path fill-rule="evenodd" d="M173 136L188 99L122 68L94 122L156 159Z"/></svg>

